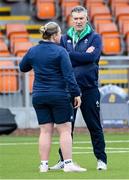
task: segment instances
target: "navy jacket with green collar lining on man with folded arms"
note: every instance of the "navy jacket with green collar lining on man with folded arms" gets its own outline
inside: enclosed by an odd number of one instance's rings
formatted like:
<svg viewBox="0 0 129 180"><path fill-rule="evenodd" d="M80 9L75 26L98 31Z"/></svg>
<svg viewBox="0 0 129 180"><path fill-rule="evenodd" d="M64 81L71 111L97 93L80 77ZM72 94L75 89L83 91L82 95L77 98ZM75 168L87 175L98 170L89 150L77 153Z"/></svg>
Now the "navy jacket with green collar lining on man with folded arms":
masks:
<svg viewBox="0 0 129 180"><path fill-rule="evenodd" d="M99 59L102 50L101 36L91 31L73 47L71 37L65 34L61 38L61 46L66 48L70 55L75 77L81 90L98 87ZM95 48L92 53L86 52L90 46Z"/></svg>

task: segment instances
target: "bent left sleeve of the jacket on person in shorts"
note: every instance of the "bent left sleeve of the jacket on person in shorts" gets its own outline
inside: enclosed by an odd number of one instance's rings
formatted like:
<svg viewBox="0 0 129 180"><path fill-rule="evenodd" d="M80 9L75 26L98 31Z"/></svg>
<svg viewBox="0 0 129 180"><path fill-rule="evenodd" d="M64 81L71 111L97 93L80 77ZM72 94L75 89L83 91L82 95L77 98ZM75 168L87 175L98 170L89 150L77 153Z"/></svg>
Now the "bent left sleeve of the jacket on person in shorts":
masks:
<svg viewBox="0 0 129 180"><path fill-rule="evenodd" d="M32 66L30 63L30 60L31 60L30 54L31 53L30 53L30 49L29 49L19 64L20 70L22 72L28 72L32 69Z"/></svg>

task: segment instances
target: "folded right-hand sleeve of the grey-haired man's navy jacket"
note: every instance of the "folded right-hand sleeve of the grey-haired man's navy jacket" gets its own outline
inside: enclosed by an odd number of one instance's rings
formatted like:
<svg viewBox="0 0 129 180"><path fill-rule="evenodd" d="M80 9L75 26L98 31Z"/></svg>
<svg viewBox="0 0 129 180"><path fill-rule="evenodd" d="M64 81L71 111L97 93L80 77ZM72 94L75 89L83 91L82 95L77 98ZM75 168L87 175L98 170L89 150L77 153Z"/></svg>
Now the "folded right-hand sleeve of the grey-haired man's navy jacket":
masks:
<svg viewBox="0 0 129 180"><path fill-rule="evenodd" d="M93 46L95 48L91 53L77 51L69 53L73 67L82 66L98 61L102 50L102 41L100 35L95 36L90 46Z"/></svg>

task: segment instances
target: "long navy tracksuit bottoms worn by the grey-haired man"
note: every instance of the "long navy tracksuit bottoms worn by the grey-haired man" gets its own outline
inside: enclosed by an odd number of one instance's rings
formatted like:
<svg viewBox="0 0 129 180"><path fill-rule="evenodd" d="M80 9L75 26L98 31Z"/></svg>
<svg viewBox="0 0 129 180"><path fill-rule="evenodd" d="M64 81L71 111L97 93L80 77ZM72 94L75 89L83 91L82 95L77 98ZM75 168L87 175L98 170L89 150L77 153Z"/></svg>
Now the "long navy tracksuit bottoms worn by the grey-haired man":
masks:
<svg viewBox="0 0 129 180"><path fill-rule="evenodd" d="M100 122L100 92L98 88L82 91L81 99L82 104L80 109L83 115L83 119L90 132L94 154L97 159L107 163L104 134ZM76 110L74 114L76 117ZM74 124L75 121L72 123L72 136ZM61 160L63 160L61 149L59 149L59 154Z"/></svg>

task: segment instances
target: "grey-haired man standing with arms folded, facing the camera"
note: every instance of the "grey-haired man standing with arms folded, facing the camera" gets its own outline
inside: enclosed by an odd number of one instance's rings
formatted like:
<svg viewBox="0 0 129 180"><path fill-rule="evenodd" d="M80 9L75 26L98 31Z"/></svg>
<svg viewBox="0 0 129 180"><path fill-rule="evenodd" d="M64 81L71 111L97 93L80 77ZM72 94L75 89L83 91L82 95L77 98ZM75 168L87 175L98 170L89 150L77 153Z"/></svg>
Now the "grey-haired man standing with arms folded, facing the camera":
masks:
<svg viewBox="0 0 129 180"><path fill-rule="evenodd" d="M82 92L81 112L90 132L97 169L107 169L105 140L100 122L100 92L98 69L102 42L99 34L88 23L87 10L76 6L71 12L73 27L62 36L61 45L69 53L77 83ZM76 112L75 112L76 114ZM74 123L72 132L74 130ZM63 156L59 149L60 161L51 170L63 168Z"/></svg>

